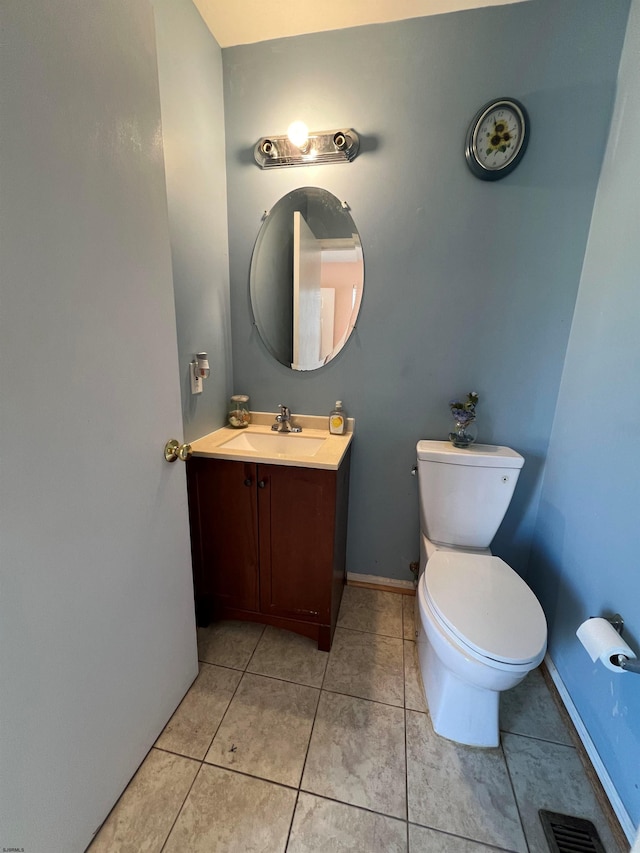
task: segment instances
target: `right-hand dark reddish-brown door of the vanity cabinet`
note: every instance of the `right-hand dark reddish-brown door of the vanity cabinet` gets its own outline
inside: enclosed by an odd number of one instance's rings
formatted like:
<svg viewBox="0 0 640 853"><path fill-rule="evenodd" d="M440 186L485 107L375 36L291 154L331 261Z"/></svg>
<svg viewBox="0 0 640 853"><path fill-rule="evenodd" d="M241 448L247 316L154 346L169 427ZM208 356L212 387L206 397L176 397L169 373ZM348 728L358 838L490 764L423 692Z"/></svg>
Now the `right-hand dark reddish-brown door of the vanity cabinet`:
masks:
<svg viewBox="0 0 640 853"><path fill-rule="evenodd" d="M263 613L328 624L336 472L258 466Z"/></svg>

